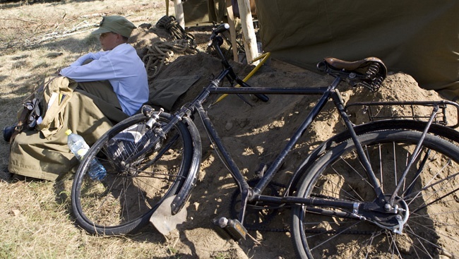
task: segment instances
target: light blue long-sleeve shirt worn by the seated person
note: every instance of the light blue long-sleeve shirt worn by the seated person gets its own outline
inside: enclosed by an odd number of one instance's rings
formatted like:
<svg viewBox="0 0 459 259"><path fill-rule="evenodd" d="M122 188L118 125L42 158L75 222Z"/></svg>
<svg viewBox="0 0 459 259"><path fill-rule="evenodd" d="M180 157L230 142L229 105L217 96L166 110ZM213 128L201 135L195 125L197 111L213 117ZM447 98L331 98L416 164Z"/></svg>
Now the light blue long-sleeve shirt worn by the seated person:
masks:
<svg viewBox="0 0 459 259"><path fill-rule="evenodd" d="M88 59L93 61L82 66ZM76 82L109 80L117 94L121 109L128 115L137 112L148 100L145 65L136 49L126 43L106 52L85 54L70 66L63 68L60 74Z"/></svg>

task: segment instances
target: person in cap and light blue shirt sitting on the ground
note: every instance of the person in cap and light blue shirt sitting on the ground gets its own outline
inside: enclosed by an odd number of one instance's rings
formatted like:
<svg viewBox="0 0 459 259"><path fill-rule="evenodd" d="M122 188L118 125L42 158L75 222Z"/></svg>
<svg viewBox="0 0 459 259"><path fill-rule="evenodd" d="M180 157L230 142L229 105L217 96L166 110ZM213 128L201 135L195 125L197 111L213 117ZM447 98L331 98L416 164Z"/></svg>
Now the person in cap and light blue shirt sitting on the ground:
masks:
<svg viewBox="0 0 459 259"><path fill-rule="evenodd" d="M66 129L92 145L114 123L136 113L148 100L148 77L136 49L127 44L133 23L121 16L107 16L92 32L100 34L102 51L81 56L61 69L59 76L44 80L59 92L62 108L49 123L48 109L35 129L24 129L11 140L8 171L37 179L56 180L78 163L67 146ZM47 89L45 88L45 89ZM72 91L74 89L74 91ZM48 92L49 94L49 92ZM49 94L52 95L52 94ZM67 97L67 99L63 98ZM42 104L44 105L44 104ZM51 115L50 115L51 116ZM4 129L8 140L14 127ZM8 140L9 141L9 140Z"/></svg>

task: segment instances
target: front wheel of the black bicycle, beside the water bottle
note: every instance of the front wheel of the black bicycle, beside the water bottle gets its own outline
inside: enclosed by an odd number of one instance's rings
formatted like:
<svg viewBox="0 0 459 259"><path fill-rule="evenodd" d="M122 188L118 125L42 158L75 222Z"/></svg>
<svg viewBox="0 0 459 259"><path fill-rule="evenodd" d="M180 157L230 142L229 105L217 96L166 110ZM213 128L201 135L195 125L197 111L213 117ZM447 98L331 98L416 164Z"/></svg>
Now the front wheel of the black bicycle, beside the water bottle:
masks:
<svg viewBox="0 0 459 259"><path fill-rule="evenodd" d="M160 114L160 124L167 124L170 117ZM189 175L193 140L182 121L148 152L126 164L129 157L145 150L139 139L155 135L157 126L147 129L146 121L147 116L138 114L115 125L97 140L78 167L71 191L72 210L78 225L90 234L129 234L145 227L156 207L179 193ZM137 143L121 139L126 132L136 135ZM95 157L107 169L101 181L87 174Z"/></svg>

